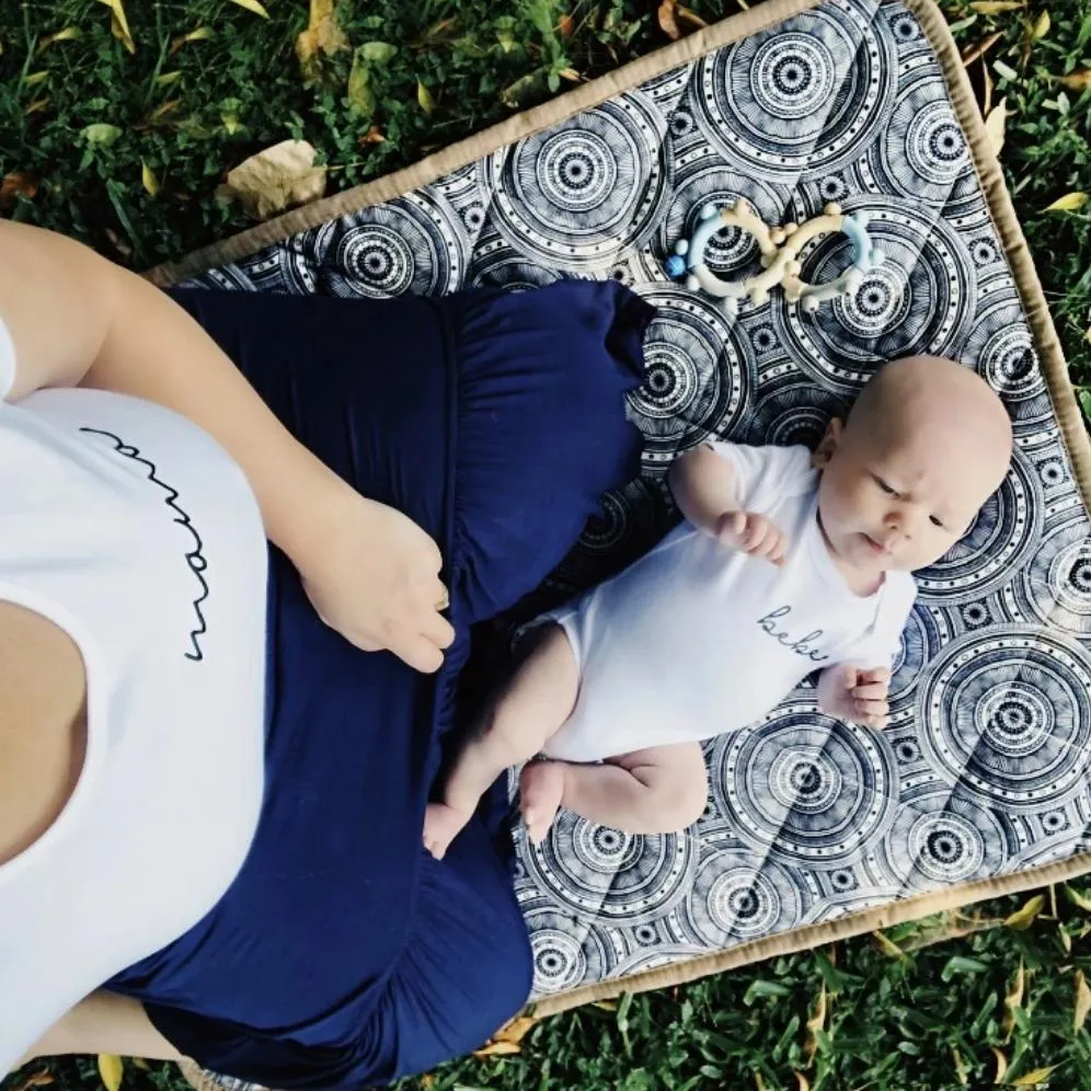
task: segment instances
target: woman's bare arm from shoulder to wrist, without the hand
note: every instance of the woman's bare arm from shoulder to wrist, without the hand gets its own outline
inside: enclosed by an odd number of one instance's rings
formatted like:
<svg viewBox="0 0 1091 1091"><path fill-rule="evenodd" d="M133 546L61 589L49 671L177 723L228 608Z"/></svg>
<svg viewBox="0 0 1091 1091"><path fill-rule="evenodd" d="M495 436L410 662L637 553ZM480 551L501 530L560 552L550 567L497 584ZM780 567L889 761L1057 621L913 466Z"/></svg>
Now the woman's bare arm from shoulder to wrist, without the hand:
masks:
<svg viewBox="0 0 1091 1091"><path fill-rule="evenodd" d="M294 560L348 489L181 307L71 239L0 221L0 318L15 344L12 400L42 387L87 386L181 413L239 463L266 535Z"/></svg>

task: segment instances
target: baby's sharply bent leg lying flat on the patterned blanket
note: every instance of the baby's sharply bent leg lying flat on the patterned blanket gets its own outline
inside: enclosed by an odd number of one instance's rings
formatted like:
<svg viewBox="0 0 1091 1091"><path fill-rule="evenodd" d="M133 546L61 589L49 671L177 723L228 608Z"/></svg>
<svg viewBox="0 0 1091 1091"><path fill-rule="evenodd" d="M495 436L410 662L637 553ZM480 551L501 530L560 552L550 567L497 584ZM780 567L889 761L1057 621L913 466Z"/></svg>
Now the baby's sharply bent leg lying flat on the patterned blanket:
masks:
<svg viewBox="0 0 1091 1091"><path fill-rule="evenodd" d="M535 762L522 770L521 789L527 834L537 845L559 805L627 834L685 829L704 811L709 774L700 743L675 743L622 754L600 766Z"/></svg>

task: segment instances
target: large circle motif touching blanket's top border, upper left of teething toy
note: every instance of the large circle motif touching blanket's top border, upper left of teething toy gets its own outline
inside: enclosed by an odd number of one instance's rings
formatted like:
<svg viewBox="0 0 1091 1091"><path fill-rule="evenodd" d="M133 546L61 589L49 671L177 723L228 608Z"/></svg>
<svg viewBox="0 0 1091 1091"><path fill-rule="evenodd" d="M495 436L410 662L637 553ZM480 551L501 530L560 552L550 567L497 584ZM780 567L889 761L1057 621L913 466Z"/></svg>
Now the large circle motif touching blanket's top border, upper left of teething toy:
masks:
<svg viewBox="0 0 1091 1091"><path fill-rule="evenodd" d="M587 273L642 245L667 199L666 119L638 92L489 157L490 221L515 250Z"/></svg>

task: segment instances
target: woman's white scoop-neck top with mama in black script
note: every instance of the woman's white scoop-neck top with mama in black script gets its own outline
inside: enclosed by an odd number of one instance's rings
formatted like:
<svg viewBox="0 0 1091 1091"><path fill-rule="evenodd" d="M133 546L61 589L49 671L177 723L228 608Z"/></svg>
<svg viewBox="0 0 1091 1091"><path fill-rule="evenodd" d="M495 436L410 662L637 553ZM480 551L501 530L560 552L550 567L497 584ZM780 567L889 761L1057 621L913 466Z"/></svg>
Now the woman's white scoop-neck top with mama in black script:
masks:
<svg viewBox="0 0 1091 1091"><path fill-rule="evenodd" d="M0 398L14 371L0 322ZM185 418L95 390L0 402L0 600L64 629L88 676L76 790L0 865L0 1076L241 868L263 789L266 559L242 471Z"/></svg>

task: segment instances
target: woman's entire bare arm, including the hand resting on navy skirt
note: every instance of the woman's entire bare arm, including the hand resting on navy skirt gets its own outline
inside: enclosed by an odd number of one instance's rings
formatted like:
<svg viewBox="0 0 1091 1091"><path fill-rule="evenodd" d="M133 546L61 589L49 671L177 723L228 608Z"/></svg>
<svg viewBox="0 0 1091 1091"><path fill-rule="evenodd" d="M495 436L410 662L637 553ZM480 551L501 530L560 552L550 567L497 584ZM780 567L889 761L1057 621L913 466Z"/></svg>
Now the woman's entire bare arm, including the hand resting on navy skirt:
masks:
<svg viewBox="0 0 1091 1091"><path fill-rule="evenodd" d="M436 543L307 450L172 299L70 239L0 221L0 318L15 344L12 400L87 386L188 417L242 468L320 617L358 647L439 669L455 631Z"/></svg>

